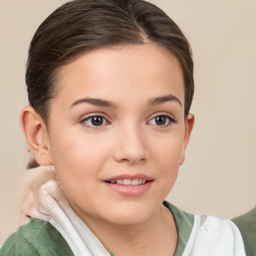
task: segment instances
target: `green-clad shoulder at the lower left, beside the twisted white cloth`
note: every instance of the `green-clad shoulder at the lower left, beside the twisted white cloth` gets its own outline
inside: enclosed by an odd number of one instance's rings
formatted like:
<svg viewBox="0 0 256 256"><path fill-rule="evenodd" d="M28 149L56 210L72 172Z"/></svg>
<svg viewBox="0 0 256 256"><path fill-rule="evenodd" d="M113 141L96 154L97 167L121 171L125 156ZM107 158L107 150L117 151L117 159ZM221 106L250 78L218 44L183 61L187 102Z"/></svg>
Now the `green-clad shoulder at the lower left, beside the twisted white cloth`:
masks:
<svg viewBox="0 0 256 256"><path fill-rule="evenodd" d="M30 217L28 224L22 225L11 234L0 249L0 256L46 256L73 253L65 239L48 221Z"/></svg>

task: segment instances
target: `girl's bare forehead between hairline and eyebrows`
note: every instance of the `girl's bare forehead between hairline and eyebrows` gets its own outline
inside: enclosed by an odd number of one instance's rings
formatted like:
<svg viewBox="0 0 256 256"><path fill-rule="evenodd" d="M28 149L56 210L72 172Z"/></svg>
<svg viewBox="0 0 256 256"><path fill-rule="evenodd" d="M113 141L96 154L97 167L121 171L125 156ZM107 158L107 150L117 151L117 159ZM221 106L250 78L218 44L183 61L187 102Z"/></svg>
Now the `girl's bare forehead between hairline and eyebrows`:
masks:
<svg viewBox="0 0 256 256"><path fill-rule="evenodd" d="M86 52L61 68L58 84L56 99L69 100L69 104L83 94L115 101L125 95L132 100L134 94L142 99L147 92L151 97L173 94L184 102L183 74L177 58L150 43Z"/></svg>

